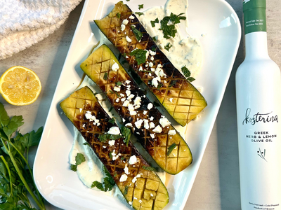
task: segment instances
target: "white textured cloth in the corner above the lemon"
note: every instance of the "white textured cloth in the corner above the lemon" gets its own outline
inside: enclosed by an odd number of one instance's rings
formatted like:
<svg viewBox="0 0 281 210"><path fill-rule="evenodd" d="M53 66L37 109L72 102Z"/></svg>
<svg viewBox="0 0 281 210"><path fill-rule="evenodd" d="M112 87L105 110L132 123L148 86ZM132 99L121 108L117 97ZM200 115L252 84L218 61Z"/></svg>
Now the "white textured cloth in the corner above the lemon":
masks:
<svg viewBox="0 0 281 210"><path fill-rule="evenodd" d="M0 0L0 59L52 34L81 0Z"/></svg>

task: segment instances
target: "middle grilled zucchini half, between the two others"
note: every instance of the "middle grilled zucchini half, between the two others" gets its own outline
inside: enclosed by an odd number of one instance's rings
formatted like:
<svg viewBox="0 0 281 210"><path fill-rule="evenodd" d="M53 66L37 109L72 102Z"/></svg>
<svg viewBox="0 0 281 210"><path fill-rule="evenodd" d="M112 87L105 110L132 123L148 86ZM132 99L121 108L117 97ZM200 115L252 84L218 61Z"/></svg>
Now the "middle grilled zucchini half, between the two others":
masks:
<svg viewBox="0 0 281 210"><path fill-rule="evenodd" d="M169 174L178 174L192 162L190 148L171 123L145 97L107 45L101 45L81 69L110 99L126 127Z"/></svg>

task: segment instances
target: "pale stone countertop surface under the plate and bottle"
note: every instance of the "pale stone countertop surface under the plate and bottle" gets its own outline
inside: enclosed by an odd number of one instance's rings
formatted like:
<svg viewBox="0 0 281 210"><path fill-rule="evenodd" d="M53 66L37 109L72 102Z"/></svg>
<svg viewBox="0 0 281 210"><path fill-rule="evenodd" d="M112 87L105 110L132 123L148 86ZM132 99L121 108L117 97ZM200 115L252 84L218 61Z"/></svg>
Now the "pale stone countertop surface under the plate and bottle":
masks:
<svg viewBox="0 0 281 210"><path fill-rule="evenodd" d="M206 0L207 1L207 0ZM242 22L242 0L226 0ZM41 79L39 99L29 106L12 106L3 98L9 116L22 115L25 120L20 130L24 134L45 124L48 109L67 51L77 26L84 1L75 8L65 24L43 41L7 59L0 60L0 73L11 66L21 65L32 69ZM267 1L268 52L281 67L281 1ZM235 72L244 59L244 37L240 43L233 71L226 87L221 108L211 132L209 143L185 209L240 209L240 181L238 165L237 122L235 106ZM227 116L227 117L226 117ZM36 150L32 151L32 158ZM31 162L32 164L32 162ZM47 209L58 209L46 204Z"/></svg>

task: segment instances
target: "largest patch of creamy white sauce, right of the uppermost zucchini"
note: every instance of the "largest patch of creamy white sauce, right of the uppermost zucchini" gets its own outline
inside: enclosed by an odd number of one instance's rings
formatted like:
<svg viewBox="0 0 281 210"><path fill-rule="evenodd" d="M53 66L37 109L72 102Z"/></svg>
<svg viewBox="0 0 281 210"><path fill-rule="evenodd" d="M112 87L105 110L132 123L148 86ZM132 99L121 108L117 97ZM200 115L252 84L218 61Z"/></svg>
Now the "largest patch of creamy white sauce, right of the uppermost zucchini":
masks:
<svg viewBox="0 0 281 210"><path fill-rule="evenodd" d="M138 17L138 20L141 21L150 36L157 38L157 46L164 52L171 63L174 64L176 69L181 71L181 68L186 66L190 70L191 76L196 78L202 68L202 48L200 41L197 38L192 38L192 36L183 37L179 25L176 25L177 33L174 38L166 39L162 31L159 31L161 27L160 21L165 16L169 16L171 13L175 15L184 13L186 15L185 17L188 17L187 11L187 0L168 0L165 6L149 8L143 12L144 15ZM150 21L156 18L159 19L159 23L155 23L155 27L152 27ZM181 22L185 24L185 27L188 26L188 18L181 20ZM172 45L169 51L164 49L164 46L168 43Z"/></svg>

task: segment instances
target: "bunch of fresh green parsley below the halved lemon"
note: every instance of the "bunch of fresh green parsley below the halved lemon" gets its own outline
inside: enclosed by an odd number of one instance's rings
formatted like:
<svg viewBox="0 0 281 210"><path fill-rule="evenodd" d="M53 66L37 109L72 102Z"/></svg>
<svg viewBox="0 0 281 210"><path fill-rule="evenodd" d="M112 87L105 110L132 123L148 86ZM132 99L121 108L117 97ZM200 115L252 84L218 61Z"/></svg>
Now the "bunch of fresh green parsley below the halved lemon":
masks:
<svg viewBox="0 0 281 210"><path fill-rule="evenodd" d="M9 118L4 105L0 103L0 209L35 209L27 193L30 193L39 209L45 209L43 197L35 186L28 164L29 150L39 144L43 127L37 132L22 135L17 131L23 124L22 116Z"/></svg>

